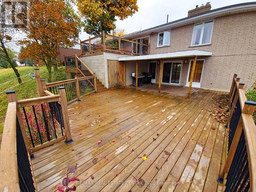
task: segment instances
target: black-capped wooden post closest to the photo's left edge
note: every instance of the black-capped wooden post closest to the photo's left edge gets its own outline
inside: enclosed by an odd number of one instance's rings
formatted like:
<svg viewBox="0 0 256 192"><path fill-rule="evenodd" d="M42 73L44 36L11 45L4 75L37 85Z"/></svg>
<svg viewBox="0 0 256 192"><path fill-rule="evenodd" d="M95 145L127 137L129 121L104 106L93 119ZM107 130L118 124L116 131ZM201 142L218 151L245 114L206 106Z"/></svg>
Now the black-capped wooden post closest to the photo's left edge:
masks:
<svg viewBox="0 0 256 192"><path fill-rule="evenodd" d="M10 102L16 102L17 103L17 96L16 96L15 91L9 90L9 91L7 91L5 93L7 95L7 99L8 99L9 103ZM30 157L32 159L33 155L32 155L32 152L30 150L30 147L29 147L29 143L28 143L25 127L24 127L24 124L23 124L22 114L19 111L18 103L16 104L16 113L17 113L17 119L18 119L18 123L19 123L19 126L20 126L20 130L22 131L23 140L24 140L26 148L27 148L27 152L29 152L29 155L30 155Z"/></svg>

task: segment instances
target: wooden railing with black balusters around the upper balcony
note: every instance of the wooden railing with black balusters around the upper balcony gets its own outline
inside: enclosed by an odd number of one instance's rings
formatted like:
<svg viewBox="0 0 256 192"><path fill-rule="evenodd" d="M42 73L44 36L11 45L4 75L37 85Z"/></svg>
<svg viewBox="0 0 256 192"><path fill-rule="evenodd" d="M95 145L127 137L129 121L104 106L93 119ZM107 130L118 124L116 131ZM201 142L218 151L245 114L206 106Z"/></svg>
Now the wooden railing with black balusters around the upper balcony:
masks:
<svg viewBox="0 0 256 192"><path fill-rule="evenodd" d="M83 40L80 42L82 55L97 52L110 52L126 55L148 55L150 54L150 45L141 42L124 39L120 36L102 34Z"/></svg>

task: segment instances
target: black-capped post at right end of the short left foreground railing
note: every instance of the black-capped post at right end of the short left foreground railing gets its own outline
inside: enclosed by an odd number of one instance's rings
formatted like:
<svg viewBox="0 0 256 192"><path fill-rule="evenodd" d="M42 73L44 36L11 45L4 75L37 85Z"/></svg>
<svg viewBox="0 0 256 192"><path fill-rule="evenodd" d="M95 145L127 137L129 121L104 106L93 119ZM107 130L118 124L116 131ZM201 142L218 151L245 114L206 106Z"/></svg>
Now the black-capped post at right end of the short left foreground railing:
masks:
<svg viewBox="0 0 256 192"><path fill-rule="evenodd" d="M66 90L65 87L61 86L59 88L59 95L60 95L60 104L61 104L61 112L63 117L64 129L65 129L65 136L66 141L65 143L73 142L71 137L70 131L70 124L69 124L69 114L68 114L68 104L67 104L67 97L66 97Z"/></svg>

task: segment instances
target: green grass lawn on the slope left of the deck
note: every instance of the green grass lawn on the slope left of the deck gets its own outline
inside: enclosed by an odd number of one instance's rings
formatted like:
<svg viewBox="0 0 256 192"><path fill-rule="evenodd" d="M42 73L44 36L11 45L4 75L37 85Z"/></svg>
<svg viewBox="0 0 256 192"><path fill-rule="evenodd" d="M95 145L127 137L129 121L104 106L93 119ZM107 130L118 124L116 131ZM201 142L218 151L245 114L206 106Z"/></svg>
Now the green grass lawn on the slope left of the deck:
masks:
<svg viewBox="0 0 256 192"><path fill-rule="evenodd" d="M23 76L23 75L29 74L30 72L34 72L34 68L35 67L18 67L17 69L20 76ZM48 71L46 67L39 67L39 72L40 72L41 78L45 78L47 81ZM22 81L23 82L27 80L29 81L23 84L18 84L17 80L12 80L15 78L16 78L16 75L12 69L0 69L0 143L1 143L1 136L4 128L6 109L8 106L6 94L2 92L11 88L11 90L16 91L18 99L38 97L35 79L31 79L29 75L26 75L22 77ZM52 69L52 82L61 81L65 79L66 79L65 67L58 67L58 71L53 71ZM10 81L10 82L7 82L7 81Z"/></svg>

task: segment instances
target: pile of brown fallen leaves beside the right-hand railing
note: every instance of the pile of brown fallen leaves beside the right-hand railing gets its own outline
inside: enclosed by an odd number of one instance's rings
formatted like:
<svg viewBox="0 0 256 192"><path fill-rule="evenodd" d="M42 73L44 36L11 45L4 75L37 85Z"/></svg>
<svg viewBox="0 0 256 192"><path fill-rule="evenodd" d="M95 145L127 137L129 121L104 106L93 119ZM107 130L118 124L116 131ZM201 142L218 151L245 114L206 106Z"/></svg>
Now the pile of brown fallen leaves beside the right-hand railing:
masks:
<svg viewBox="0 0 256 192"><path fill-rule="evenodd" d="M229 95L218 95L214 99L214 108L210 115L220 123L226 123L229 114ZM236 110L236 109L235 109Z"/></svg>

